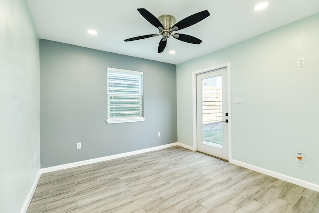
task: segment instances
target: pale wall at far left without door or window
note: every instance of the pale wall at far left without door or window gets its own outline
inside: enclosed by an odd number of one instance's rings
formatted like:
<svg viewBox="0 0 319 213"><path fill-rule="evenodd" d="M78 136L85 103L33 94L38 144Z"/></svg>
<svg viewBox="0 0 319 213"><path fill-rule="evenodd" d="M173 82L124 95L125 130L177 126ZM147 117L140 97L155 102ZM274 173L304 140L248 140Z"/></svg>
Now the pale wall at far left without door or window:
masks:
<svg viewBox="0 0 319 213"><path fill-rule="evenodd" d="M1 213L24 209L40 171L39 74L39 41L25 1L0 0Z"/></svg>

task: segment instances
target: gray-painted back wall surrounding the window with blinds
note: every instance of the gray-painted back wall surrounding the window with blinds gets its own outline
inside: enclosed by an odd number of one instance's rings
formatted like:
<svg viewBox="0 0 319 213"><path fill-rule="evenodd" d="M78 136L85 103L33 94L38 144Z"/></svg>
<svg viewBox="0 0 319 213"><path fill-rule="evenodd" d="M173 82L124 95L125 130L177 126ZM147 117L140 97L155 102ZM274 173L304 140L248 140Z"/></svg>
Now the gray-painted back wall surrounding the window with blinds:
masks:
<svg viewBox="0 0 319 213"><path fill-rule="evenodd" d="M106 123L107 67L144 73L144 122ZM176 65L40 39L40 70L41 168L177 142Z"/></svg>

